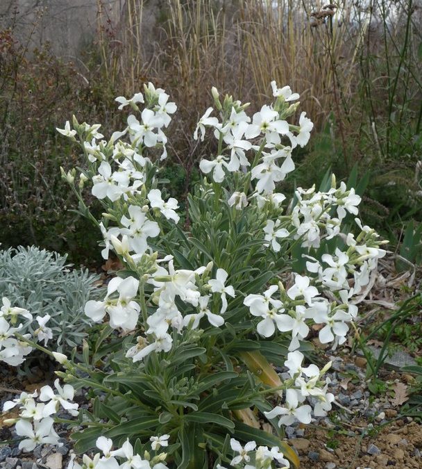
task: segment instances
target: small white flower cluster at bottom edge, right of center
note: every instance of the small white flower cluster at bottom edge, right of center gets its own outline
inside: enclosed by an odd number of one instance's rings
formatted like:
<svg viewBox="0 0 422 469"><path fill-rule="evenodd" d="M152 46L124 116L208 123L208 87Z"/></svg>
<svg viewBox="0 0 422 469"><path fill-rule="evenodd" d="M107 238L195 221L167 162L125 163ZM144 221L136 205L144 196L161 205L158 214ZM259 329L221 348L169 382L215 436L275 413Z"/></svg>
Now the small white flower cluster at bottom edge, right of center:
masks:
<svg viewBox="0 0 422 469"><path fill-rule="evenodd" d="M246 445L242 446L235 438L230 438L230 447L238 453L232 461L230 466L242 469L270 469L273 467L273 461L278 463L281 469L289 469L290 463L285 459L284 455L277 446L256 446L255 441L248 441ZM217 469L226 469L221 464L217 464Z"/></svg>

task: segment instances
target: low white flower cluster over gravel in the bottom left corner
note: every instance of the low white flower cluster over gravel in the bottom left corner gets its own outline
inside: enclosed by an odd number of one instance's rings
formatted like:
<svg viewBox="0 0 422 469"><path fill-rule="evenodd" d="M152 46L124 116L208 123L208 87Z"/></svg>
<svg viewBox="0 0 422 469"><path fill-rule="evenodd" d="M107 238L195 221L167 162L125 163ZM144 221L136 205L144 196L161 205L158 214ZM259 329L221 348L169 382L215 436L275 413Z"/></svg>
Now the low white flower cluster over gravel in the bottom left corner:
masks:
<svg viewBox="0 0 422 469"><path fill-rule="evenodd" d="M18 436L22 436L19 449L26 452L33 451L37 445L62 445L56 433L51 415L62 407L70 415L78 415L78 404L71 402L75 390L70 384L60 386L59 380L54 381L55 391L51 386L43 386L40 395L37 391L32 394L22 393L17 399L7 401L3 405L3 412L8 412L15 406L19 406L19 418L10 419L15 422L15 430ZM36 402L35 399L41 402Z"/></svg>

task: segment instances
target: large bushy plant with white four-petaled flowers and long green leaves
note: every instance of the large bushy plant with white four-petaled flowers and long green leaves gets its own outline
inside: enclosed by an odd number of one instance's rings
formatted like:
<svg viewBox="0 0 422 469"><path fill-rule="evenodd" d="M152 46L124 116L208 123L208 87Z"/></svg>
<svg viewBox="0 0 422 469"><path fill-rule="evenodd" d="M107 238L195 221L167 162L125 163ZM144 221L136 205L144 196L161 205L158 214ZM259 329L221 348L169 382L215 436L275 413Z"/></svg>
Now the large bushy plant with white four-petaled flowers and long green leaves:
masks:
<svg viewBox="0 0 422 469"><path fill-rule="evenodd" d="M103 299L85 305L103 325L83 363L61 360L58 375L92 397L73 434L85 456L70 467L289 468L298 460L283 427L330 411L330 363L305 363L310 326L320 324L322 343L344 343L353 302L385 252L357 217L359 195L334 177L327 190L278 192L313 124L297 117L297 93L271 87L273 102L254 115L212 90L194 138L210 133L217 152L199 165L189 224L160 179L176 111L164 90L149 83L117 98L127 126L108 140L76 118L59 130L86 156L63 174L99 229L103 258L114 252L124 265ZM101 220L85 206L86 186ZM90 455L95 447L102 455Z"/></svg>

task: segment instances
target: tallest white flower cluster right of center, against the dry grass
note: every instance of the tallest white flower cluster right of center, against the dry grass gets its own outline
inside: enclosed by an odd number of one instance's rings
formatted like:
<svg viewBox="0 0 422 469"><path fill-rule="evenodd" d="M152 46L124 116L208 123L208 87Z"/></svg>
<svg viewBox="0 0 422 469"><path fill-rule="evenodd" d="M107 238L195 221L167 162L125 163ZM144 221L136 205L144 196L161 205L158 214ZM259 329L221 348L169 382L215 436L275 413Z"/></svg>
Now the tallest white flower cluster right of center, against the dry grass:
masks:
<svg viewBox="0 0 422 469"><path fill-rule="evenodd" d="M261 110L253 115L252 120L244 112L246 106L242 106L240 101L235 101L230 117L223 122L217 117L210 117L214 109L208 108L194 132L195 139L200 132L201 140L204 140L206 128L210 127L214 129L214 136L219 140L217 158L203 159L199 165L205 174L212 172L212 177L217 183L223 181L226 171L246 171L246 168L251 166L246 151L253 151L258 157L262 157L262 163L253 165L251 179L258 180L256 191L264 197L273 192L277 182L285 179L287 174L294 170L292 149L307 144L314 126L310 119L305 117L306 113L301 114L298 126L290 125L285 118L294 113L297 104L286 107L285 103L296 101L299 95L292 93L288 86L278 89L275 81L271 86L273 96L276 97L275 105L262 106ZM261 139L260 145L254 145L257 138ZM282 138L287 138L289 145L282 145ZM226 144L225 149L223 144Z"/></svg>

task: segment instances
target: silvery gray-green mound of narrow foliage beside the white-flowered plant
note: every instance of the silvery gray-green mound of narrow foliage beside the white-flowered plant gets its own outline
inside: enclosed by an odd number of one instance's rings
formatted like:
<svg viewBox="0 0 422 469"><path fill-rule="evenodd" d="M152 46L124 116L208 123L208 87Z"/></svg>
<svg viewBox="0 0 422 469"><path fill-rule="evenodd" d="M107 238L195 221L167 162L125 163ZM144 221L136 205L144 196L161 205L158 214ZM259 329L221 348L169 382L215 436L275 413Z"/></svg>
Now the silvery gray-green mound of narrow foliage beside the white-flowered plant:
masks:
<svg viewBox="0 0 422 469"><path fill-rule="evenodd" d="M33 315L33 325L25 324L24 333L37 327L37 315L49 314L47 325L59 351L82 342L92 324L83 311L85 303L103 296L95 285L98 275L71 270L66 261L67 256L35 246L0 251L0 297Z"/></svg>

